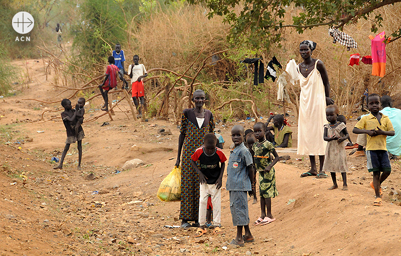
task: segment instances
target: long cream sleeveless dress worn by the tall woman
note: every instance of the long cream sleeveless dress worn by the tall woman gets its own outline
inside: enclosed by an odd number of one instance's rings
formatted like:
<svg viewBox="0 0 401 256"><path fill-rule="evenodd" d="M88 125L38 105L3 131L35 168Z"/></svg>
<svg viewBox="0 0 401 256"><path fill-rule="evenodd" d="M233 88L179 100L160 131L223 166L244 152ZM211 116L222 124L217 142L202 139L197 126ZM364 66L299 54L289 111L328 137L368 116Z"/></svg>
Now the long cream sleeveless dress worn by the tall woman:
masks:
<svg viewBox="0 0 401 256"><path fill-rule="evenodd" d="M314 69L307 77L299 71L301 94L298 115L298 155L324 155L327 142L323 139L326 120L326 95L320 72Z"/></svg>

